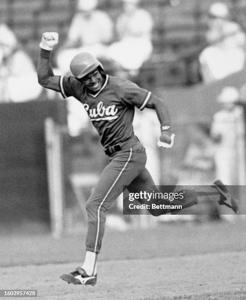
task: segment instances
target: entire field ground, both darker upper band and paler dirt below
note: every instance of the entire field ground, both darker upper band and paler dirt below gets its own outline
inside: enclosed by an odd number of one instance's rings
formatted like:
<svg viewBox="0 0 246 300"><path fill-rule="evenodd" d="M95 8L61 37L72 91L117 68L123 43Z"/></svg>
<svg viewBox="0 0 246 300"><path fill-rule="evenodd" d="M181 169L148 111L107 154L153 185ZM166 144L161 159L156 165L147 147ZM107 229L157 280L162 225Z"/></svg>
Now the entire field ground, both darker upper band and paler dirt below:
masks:
<svg viewBox="0 0 246 300"><path fill-rule="evenodd" d="M37 289L42 300L243 300L245 228L241 218L107 228L94 287L59 279L81 264L84 232L58 240L45 233L2 235L0 289Z"/></svg>

